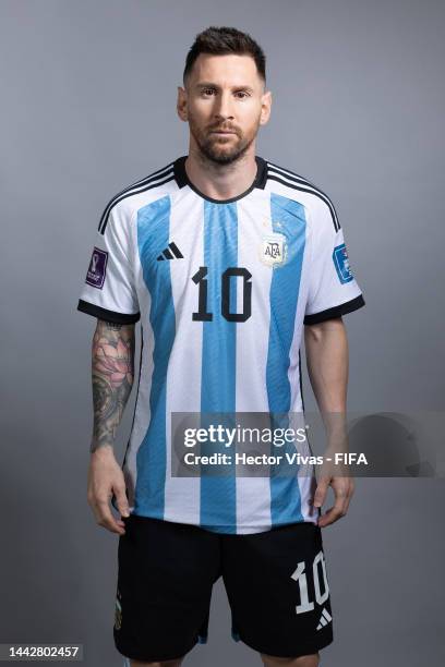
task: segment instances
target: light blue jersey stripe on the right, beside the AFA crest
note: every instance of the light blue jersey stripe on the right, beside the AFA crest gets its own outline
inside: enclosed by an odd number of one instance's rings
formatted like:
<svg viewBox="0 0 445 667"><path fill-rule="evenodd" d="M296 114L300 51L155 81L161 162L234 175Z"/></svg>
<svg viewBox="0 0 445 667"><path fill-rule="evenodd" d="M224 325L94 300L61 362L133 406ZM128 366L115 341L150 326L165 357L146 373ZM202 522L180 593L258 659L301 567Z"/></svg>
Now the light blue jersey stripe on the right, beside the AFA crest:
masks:
<svg viewBox="0 0 445 667"><path fill-rule="evenodd" d="M274 232L286 237L287 257L282 266L273 269L266 383L269 411L285 413L272 420L272 425L286 428L291 398L289 355L305 246L305 216L301 204L277 194L270 195L270 216ZM292 442L279 448L272 446L272 450L278 454L296 452ZM291 471L294 473L292 476L289 474ZM272 525L303 521L297 472L296 465L281 464L270 470Z"/></svg>

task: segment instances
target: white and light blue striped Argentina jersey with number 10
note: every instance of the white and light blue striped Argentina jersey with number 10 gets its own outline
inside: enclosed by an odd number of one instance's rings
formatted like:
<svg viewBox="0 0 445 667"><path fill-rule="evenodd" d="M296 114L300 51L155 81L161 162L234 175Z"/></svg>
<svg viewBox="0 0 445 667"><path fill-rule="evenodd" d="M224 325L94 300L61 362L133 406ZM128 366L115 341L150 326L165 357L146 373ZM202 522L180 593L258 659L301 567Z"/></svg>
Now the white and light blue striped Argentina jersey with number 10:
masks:
<svg viewBox="0 0 445 667"><path fill-rule="evenodd" d="M302 412L303 326L364 305L326 194L256 156L226 201L182 156L107 205L77 310L141 320L133 424L122 464L130 511L221 533L316 523L314 474L172 475L171 414Z"/></svg>

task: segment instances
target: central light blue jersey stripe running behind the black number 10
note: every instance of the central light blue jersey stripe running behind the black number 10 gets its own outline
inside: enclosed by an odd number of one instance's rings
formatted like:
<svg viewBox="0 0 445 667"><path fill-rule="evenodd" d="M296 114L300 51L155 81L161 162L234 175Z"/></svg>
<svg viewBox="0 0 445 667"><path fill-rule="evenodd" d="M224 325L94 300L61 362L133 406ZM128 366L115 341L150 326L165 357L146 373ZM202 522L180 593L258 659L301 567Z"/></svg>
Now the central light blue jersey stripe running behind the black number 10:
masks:
<svg viewBox="0 0 445 667"><path fill-rule="evenodd" d="M204 202L204 265L207 267L207 310L212 322L203 322L201 412L202 426L211 423L205 413L236 411L237 323L221 314L221 277L238 262L237 204ZM230 312L237 312L237 279L232 277ZM240 325L242 326L242 324ZM230 425L230 417L224 420ZM213 422L215 423L215 422ZM206 446L205 452L227 452L224 445ZM229 452L230 453L230 452ZM220 533L237 532L236 469L212 466L215 476L201 476L201 525ZM204 466L203 466L204 468ZM219 472L219 474L217 474ZM224 472L224 476L220 474Z"/></svg>

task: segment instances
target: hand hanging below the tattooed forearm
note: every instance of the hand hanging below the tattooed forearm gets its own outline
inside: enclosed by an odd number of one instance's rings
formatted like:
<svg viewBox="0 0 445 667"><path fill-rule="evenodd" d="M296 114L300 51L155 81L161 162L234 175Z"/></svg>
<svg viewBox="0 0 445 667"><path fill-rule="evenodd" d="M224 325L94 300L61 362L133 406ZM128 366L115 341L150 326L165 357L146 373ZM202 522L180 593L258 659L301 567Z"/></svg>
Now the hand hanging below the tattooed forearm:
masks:
<svg viewBox="0 0 445 667"><path fill-rule="evenodd" d="M113 493L121 517L129 517L123 473L115 458L112 447L106 445L96 449L91 456L87 499L99 525L111 533L124 535L124 522L115 519L110 509Z"/></svg>

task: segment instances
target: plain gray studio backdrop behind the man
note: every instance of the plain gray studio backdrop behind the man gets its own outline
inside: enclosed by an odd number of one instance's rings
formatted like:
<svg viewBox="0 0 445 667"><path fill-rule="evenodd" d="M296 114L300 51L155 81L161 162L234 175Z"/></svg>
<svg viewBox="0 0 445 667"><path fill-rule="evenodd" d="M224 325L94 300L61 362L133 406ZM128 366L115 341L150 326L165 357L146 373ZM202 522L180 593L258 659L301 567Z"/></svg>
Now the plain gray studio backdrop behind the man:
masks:
<svg viewBox="0 0 445 667"><path fill-rule="evenodd" d="M98 217L187 153L176 95L195 34L250 32L274 94L257 153L330 195L366 300L345 318L350 410L442 410L445 4L1 0L0 19L0 642L83 642L88 667L117 667L117 536L86 504L96 320L75 310ZM358 481L323 532L325 667L444 660L443 502L441 480ZM212 605L185 664L258 665L220 581Z"/></svg>

